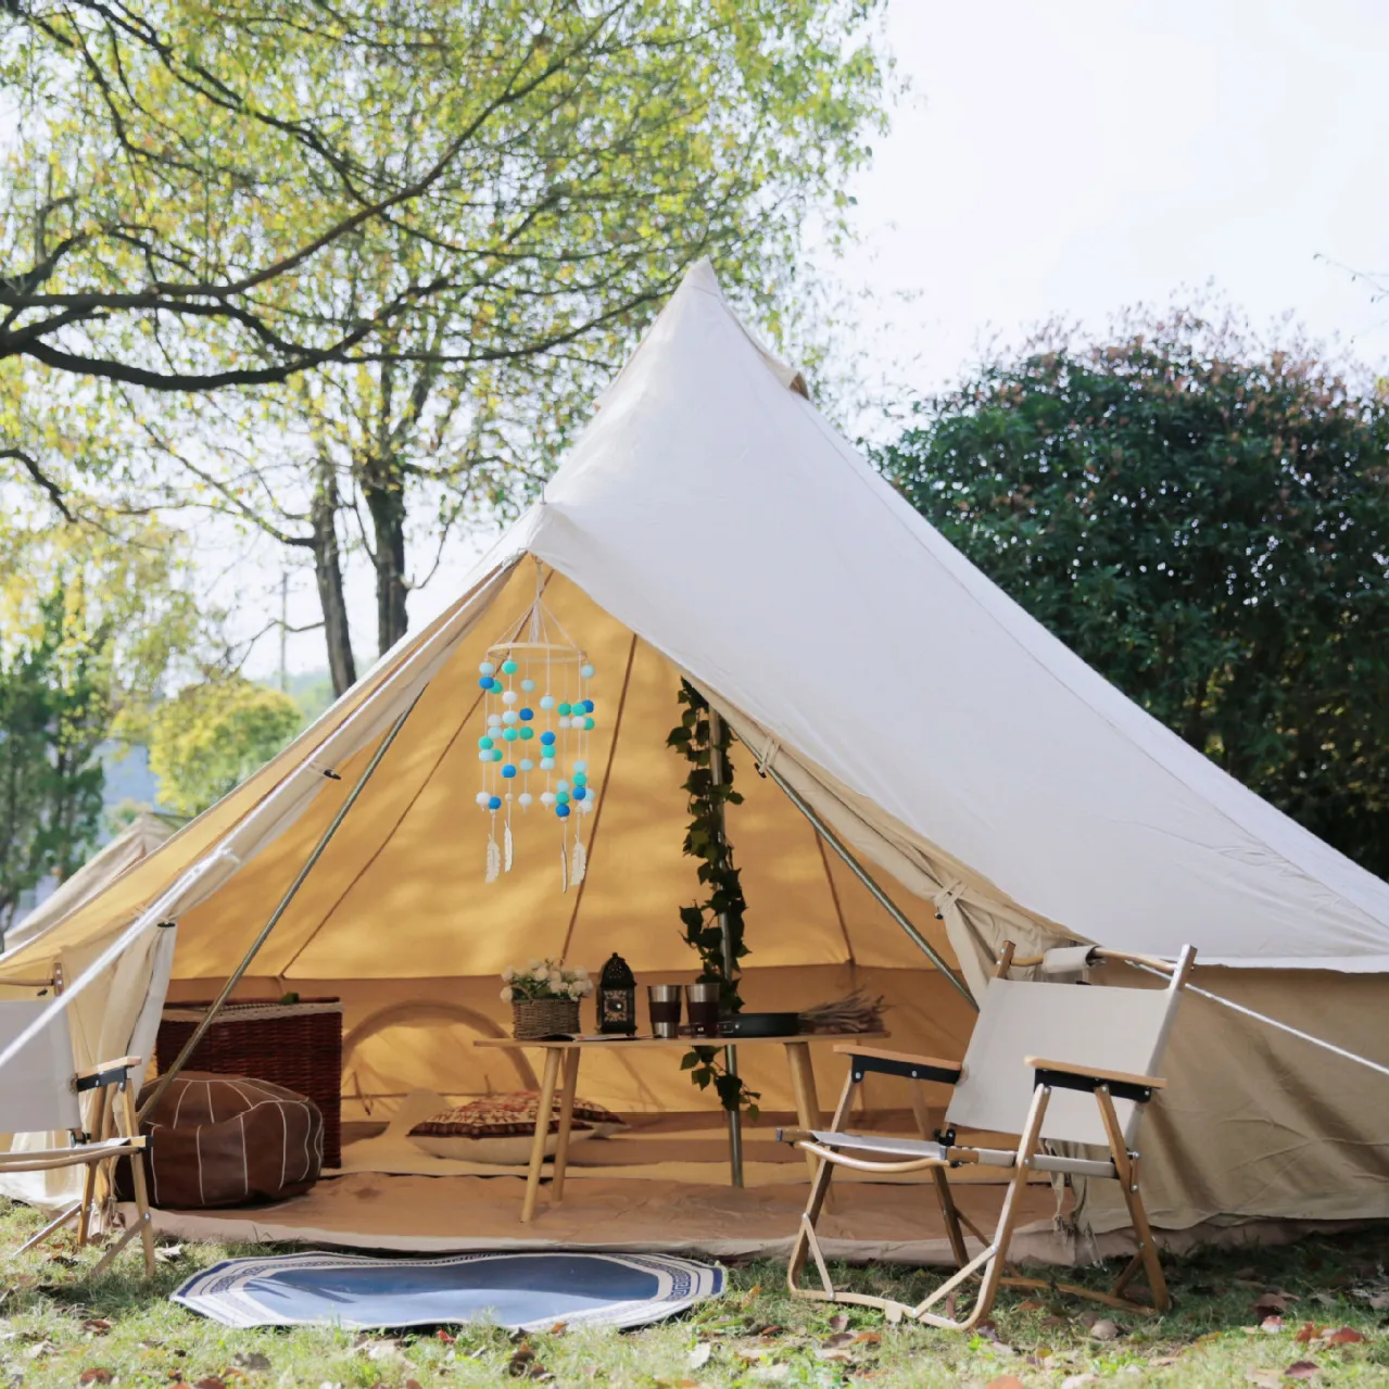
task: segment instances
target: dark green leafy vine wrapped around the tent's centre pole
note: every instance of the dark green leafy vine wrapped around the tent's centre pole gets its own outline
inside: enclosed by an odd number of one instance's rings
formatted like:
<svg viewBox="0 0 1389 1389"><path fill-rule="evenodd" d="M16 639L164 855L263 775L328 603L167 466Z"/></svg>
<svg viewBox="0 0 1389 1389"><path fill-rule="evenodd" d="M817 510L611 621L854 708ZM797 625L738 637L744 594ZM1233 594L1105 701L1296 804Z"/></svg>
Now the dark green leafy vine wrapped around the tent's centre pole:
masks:
<svg viewBox="0 0 1389 1389"><path fill-rule="evenodd" d="M685 793L689 796L690 822L685 832L685 853L699 860L699 881L708 890L703 901L681 907L681 925L685 942L696 951L703 965L700 979L718 982L720 1011L738 1013L743 1000L738 992L739 961L747 954L743 940L743 911L747 903L738 865L733 863L733 846L724 833L724 807L740 806L743 797L733 790L733 764L728 749L733 740L728 725L720 720L717 751L722 764L722 778L714 781L711 742L711 720L708 701L689 681L681 681L681 721L671 729L667 746L674 747L690 764L685 779ZM724 931L728 924L728 938L732 953L732 970L724 968ZM757 1117L756 1090L750 1090L742 1076L729 1074L720 1060L720 1049L696 1046L685 1054L681 1068L690 1072L690 1081L701 1090L711 1085L725 1110L746 1107L751 1118Z"/></svg>

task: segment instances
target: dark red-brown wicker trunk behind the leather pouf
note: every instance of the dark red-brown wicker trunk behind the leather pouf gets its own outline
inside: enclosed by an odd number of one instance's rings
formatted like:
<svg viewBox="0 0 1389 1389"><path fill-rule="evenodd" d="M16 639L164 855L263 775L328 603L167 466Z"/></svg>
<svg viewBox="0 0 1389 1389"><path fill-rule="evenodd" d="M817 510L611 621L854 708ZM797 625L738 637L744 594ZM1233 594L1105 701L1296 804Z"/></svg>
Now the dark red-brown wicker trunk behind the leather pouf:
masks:
<svg viewBox="0 0 1389 1389"><path fill-rule="evenodd" d="M165 1006L154 1043L161 1075L210 1006ZM199 1042L188 1070L249 1075L313 1100L324 1115L324 1167L342 1163L343 1006L338 999L228 1003Z"/></svg>

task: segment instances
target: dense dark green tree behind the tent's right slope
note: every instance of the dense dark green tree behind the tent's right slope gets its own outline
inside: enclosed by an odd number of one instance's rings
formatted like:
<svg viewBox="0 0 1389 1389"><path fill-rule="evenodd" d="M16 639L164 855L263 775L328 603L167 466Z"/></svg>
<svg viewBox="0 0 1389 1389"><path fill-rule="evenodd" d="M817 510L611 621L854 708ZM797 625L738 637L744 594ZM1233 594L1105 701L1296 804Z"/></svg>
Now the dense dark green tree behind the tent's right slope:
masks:
<svg viewBox="0 0 1389 1389"><path fill-rule="evenodd" d="M1231 318L1057 328L878 463L1085 661L1389 875L1389 401Z"/></svg>

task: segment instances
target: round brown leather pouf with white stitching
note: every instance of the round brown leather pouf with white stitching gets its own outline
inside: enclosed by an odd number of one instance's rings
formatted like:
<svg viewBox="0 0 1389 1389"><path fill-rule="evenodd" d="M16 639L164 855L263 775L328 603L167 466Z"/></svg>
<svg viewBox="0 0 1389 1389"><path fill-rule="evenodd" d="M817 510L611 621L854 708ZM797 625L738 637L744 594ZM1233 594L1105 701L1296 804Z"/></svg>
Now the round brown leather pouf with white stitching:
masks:
<svg viewBox="0 0 1389 1389"><path fill-rule="evenodd" d="M246 1076L174 1076L140 1131L150 1135L151 1206L206 1210L299 1196L324 1163L318 1106Z"/></svg>

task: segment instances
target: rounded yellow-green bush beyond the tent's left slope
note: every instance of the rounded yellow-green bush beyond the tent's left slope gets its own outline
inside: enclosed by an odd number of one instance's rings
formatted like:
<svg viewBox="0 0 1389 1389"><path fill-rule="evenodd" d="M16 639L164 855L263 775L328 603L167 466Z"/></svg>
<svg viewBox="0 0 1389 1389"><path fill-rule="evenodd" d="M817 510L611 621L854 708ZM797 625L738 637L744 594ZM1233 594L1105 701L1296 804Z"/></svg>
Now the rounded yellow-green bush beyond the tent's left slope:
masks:
<svg viewBox="0 0 1389 1389"><path fill-rule="evenodd" d="M189 685L149 715L160 804L181 815L200 814L269 761L301 724L288 694L240 675Z"/></svg>

